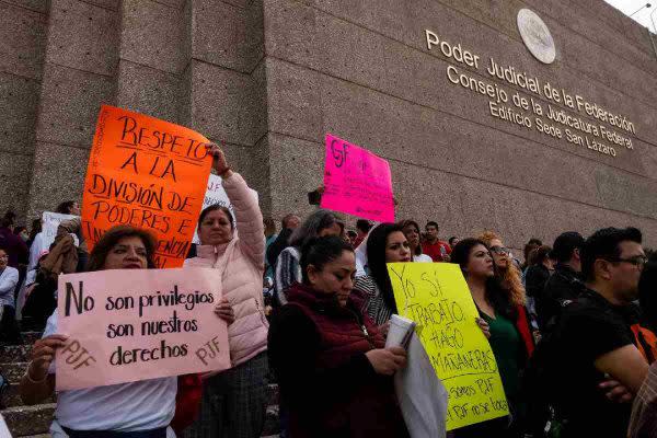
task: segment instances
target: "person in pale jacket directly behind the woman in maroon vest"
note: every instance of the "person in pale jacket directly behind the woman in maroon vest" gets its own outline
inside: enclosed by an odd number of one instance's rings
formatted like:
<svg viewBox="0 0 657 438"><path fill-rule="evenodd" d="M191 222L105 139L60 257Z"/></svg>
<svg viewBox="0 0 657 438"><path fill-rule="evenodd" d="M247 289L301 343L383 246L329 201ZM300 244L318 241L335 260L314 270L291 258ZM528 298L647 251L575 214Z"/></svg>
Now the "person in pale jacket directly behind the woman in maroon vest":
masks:
<svg viewBox="0 0 657 438"><path fill-rule="evenodd" d="M311 239L326 235L342 235L345 224L328 210L318 210L310 215L303 223L295 229L289 239L289 246L280 252L276 262L276 299L280 306L287 303L287 290L295 283L301 281L301 247Z"/></svg>

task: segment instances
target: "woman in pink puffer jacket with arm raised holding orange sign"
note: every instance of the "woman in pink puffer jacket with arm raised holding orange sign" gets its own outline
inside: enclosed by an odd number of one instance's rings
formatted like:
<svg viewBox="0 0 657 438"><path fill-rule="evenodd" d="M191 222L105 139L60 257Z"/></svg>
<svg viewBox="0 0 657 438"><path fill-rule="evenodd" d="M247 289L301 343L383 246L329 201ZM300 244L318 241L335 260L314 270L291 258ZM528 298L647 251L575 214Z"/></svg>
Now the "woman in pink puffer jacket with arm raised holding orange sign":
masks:
<svg viewBox="0 0 657 438"><path fill-rule="evenodd" d="M229 322L228 337L232 368L204 376L200 416L185 437L261 436L266 412L268 323L263 304L265 238L257 199L238 173L226 162L223 151L214 146L214 169L223 178L223 188L234 207L207 207L198 220L201 245L185 266L222 270L222 293L228 303L217 308ZM237 233L239 230L239 237Z"/></svg>

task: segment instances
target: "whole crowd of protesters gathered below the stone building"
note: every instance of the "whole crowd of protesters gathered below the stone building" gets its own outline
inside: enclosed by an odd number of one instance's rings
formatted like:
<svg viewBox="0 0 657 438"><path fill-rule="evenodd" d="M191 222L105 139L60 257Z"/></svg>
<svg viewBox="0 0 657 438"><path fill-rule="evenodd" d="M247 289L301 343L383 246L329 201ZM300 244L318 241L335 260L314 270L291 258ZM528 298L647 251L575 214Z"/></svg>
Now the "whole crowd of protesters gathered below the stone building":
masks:
<svg viewBox="0 0 657 438"><path fill-rule="evenodd" d="M221 149L211 153L234 217L205 208L185 266L221 273L215 312L229 327L232 367L60 391L54 437L256 438L272 373L281 437L408 436L393 385L406 351L385 347L397 313L394 262L460 266L497 361L510 414L449 436L657 436L657 257L639 230L567 231L552 246L532 239L522 261L493 231L441 241L435 221L423 230L415 220L359 219L349 230L341 214L318 209L285 216L277 233ZM58 210L79 215L76 203ZM58 275L154 268L155 243L119 226L88 253L72 219L44 249L38 221L31 232L12 214L0 224L1 341L21 342L19 320L44 331L20 388L25 403L38 403L55 391L55 351L67 341L57 331Z"/></svg>

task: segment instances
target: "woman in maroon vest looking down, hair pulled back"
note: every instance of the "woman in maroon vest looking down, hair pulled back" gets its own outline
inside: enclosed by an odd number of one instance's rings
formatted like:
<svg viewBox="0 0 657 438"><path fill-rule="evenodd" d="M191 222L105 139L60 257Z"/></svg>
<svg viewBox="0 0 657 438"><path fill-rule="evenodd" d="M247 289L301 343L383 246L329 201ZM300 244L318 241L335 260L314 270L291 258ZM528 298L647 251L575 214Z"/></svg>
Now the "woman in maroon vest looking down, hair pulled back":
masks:
<svg viewBox="0 0 657 438"><path fill-rule="evenodd" d="M407 437L392 379L406 353L383 348L351 296L354 250L337 237L312 239L301 270L302 284L291 287L269 332L290 438Z"/></svg>

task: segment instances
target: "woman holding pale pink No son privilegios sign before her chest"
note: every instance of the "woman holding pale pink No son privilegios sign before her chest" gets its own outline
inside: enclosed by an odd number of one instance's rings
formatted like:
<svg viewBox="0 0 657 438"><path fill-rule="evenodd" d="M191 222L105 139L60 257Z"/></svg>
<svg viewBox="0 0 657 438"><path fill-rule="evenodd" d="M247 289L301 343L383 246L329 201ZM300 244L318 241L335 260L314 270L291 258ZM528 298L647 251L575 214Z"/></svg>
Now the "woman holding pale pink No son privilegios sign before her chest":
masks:
<svg viewBox="0 0 657 438"><path fill-rule="evenodd" d="M95 244L89 270L153 268L154 251L150 233L116 227ZM67 342L57 334L57 313L48 320L44 337L34 344L32 361L21 380L21 396L27 404L51 396L55 390L55 351ZM174 438L169 424L175 412L176 388L176 378L170 377L59 391L50 434L54 438Z"/></svg>

